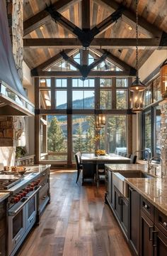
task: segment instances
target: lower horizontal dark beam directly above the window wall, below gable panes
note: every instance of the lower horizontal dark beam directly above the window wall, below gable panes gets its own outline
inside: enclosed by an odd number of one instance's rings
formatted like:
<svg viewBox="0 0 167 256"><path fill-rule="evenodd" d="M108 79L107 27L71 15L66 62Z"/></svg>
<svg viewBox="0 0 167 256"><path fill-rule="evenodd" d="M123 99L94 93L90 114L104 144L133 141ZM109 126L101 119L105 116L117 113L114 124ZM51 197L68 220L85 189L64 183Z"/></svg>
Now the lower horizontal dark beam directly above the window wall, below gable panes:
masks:
<svg viewBox="0 0 167 256"><path fill-rule="evenodd" d="M59 77L59 78L79 78L81 77L80 71L38 71L37 73L32 74L35 77ZM129 71L91 71L88 74L88 78L110 78L110 77L125 77L125 76L134 76L129 73Z"/></svg>

